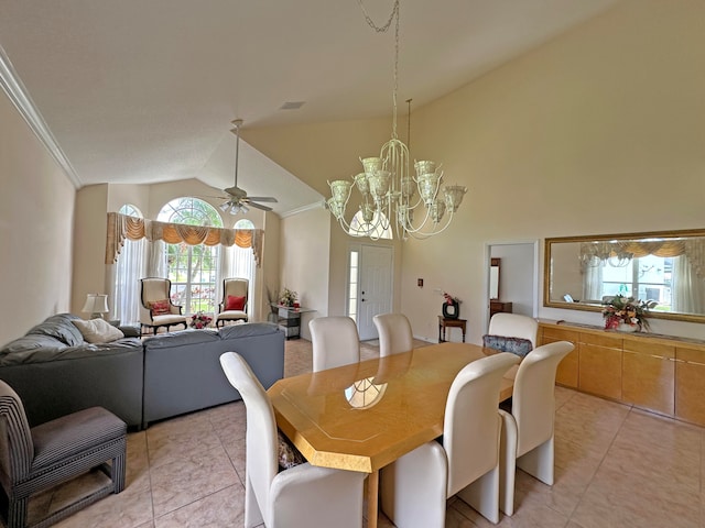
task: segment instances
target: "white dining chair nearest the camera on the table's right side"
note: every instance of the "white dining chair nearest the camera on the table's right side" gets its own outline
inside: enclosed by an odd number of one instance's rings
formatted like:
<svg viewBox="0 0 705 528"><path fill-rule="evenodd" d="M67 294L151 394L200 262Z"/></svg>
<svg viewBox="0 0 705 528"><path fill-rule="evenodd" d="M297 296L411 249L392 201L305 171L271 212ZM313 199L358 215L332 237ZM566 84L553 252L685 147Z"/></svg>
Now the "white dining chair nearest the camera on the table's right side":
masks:
<svg viewBox="0 0 705 528"><path fill-rule="evenodd" d="M453 495L499 520L499 391L518 361L502 352L463 367L448 392L443 437L382 469L382 512L394 526L443 528Z"/></svg>

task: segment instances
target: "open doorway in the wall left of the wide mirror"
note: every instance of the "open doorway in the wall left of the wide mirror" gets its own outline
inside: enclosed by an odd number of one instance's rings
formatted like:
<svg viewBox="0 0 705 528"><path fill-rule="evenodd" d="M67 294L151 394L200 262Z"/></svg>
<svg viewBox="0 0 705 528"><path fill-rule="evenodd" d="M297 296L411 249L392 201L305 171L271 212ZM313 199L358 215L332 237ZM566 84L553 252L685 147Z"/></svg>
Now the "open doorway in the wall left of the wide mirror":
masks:
<svg viewBox="0 0 705 528"><path fill-rule="evenodd" d="M539 316L539 242L497 242L487 244L487 311L489 326L489 299L491 262L499 258L499 301L511 302L511 312Z"/></svg>

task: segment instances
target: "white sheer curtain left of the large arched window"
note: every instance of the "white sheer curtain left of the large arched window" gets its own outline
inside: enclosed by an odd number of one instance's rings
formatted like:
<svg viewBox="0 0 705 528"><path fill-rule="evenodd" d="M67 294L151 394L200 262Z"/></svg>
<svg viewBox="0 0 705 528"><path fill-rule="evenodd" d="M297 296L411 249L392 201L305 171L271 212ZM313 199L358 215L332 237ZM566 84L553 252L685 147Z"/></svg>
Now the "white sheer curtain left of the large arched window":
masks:
<svg viewBox="0 0 705 528"><path fill-rule="evenodd" d="M147 241L126 240L115 265L112 314L122 324L140 320L140 278L144 276Z"/></svg>

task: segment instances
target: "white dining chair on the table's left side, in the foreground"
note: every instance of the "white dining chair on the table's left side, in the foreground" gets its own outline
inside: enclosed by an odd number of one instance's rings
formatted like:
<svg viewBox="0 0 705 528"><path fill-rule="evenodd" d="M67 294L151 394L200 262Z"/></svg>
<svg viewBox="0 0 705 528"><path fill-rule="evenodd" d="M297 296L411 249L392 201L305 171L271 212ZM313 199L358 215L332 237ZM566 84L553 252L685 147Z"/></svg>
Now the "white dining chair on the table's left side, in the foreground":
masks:
<svg viewBox="0 0 705 528"><path fill-rule="evenodd" d="M279 471L276 421L267 392L239 354L226 352L220 365L247 409L245 528L360 528L366 474L308 463Z"/></svg>

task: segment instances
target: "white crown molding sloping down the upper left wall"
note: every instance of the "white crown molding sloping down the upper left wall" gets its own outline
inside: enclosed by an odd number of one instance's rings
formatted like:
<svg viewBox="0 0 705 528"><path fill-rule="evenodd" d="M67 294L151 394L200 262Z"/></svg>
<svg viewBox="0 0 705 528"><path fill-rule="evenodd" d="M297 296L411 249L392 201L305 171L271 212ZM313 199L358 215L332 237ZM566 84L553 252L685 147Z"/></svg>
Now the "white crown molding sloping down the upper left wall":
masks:
<svg viewBox="0 0 705 528"><path fill-rule="evenodd" d="M2 46L0 46L0 86L2 86L4 92L19 110L20 114L24 118L26 124L30 125L32 132L34 132L39 140L44 144L62 170L64 170L66 177L72 184L74 184L74 187L79 189L83 184L78 178L76 170L74 170L74 167L64 154L64 151L58 146L54 134L52 134L52 131L46 125L44 118L42 118L42 114L36 109L34 101L32 101L32 98L26 91L26 88L24 88L22 80L17 75L10 58Z"/></svg>

